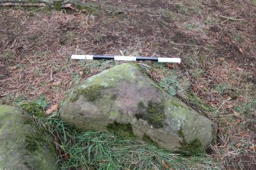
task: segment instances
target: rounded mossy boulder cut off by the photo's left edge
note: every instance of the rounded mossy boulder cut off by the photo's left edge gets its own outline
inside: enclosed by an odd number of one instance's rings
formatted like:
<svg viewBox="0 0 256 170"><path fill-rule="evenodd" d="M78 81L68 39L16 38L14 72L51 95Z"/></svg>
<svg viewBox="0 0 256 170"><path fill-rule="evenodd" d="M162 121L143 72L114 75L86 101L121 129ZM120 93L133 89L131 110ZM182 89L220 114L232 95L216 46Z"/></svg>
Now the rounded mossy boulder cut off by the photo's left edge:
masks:
<svg viewBox="0 0 256 170"><path fill-rule="evenodd" d="M0 169L57 169L57 155L48 136L21 109L0 104Z"/></svg>

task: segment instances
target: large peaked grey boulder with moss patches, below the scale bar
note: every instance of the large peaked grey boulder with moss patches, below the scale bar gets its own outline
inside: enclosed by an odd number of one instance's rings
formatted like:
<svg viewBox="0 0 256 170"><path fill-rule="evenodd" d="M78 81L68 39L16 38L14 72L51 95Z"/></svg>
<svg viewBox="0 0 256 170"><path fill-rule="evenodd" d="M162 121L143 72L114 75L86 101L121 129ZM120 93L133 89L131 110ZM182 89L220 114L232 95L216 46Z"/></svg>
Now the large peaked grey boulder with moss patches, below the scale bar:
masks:
<svg viewBox="0 0 256 170"><path fill-rule="evenodd" d="M131 127L138 139L170 150L193 141L208 147L217 130L215 123L168 95L133 63L107 69L74 88L63 101L60 118L80 130Z"/></svg>

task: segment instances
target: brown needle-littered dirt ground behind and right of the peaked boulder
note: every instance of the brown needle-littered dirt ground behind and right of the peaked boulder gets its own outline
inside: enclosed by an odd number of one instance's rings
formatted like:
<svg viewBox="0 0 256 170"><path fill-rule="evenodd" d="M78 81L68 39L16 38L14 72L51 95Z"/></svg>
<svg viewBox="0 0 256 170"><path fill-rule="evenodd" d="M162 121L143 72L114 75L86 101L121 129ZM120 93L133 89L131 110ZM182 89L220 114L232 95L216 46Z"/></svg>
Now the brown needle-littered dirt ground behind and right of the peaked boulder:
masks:
<svg viewBox="0 0 256 170"><path fill-rule="evenodd" d="M183 63L170 69L215 108L212 157L226 169L256 169L256 2L94 3L92 13L0 8L0 102L44 95L59 104L73 85L108 67L84 74L74 53L179 56Z"/></svg>

